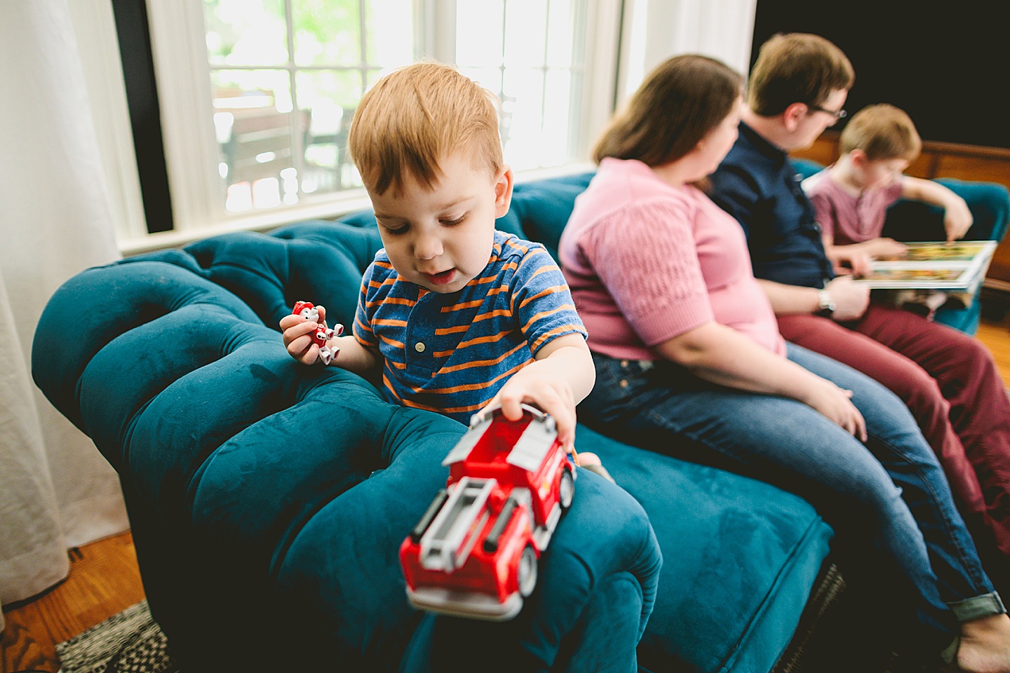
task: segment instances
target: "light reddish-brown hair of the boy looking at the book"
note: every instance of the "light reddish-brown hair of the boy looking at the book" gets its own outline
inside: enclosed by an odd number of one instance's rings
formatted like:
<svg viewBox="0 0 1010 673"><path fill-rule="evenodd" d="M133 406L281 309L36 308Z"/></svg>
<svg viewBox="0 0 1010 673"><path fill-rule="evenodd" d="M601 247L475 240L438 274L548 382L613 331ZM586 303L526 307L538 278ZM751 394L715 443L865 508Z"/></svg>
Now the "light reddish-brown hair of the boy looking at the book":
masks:
<svg viewBox="0 0 1010 673"><path fill-rule="evenodd" d="M881 103L863 108L845 124L838 151L847 154L853 149L862 149L869 159L912 161L922 150L922 138L904 110Z"/></svg>

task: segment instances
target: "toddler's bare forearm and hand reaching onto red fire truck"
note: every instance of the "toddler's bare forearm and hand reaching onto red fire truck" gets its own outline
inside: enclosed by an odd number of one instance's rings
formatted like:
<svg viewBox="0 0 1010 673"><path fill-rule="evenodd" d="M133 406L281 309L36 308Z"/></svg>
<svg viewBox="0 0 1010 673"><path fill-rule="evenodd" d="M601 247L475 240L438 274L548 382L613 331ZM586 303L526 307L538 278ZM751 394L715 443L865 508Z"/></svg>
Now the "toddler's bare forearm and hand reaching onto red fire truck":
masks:
<svg viewBox="0 0 1010 673"><path fill-rule="evenodd" d="M530 404L554 417L558 439L566 450L575 444L575 407L593 389L596 368L586 339L566 334L540 348L535 360L517 371L488 406L500 404L505 418L522 418L520 405Z"/></svg>

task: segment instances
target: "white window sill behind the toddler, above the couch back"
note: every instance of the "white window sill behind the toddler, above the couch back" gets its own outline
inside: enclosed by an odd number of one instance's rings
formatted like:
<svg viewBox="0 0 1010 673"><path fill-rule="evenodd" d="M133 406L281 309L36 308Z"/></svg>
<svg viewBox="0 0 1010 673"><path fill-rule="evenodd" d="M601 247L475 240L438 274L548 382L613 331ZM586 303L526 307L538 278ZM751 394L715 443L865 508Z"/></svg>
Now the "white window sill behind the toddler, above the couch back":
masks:
<svg viewBox="0 0 1010 673"><path fill-rule="evenodd" d="M550 178L580 175L595 170L596 165L590 162L566 163L565 165L550 169L519 172L515 176L515 182L517 184L532 183ZM182 247L193 241L234 231L270 231L285 224L302 222L304 220L335 220L348 213L371 207L371 201L369 201L367 196L363 195L354 199L330 201L312 206L262 212L255 215L236 217L210 227L164 231L138 238L123 239L119 241L119 252L124 257L131 257L145 252Z"/></svg>

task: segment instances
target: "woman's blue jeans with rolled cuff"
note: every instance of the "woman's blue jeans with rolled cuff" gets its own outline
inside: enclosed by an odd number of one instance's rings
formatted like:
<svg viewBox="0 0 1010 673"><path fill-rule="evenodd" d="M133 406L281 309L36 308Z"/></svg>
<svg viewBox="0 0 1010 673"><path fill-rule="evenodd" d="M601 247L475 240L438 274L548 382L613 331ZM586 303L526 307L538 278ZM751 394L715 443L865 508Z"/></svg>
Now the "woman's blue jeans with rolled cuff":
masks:
<svg viewBox="0 0 1010 673"><path fill-rule="evenodd" d="M596 385L580 419L628 443L804 497L836 530L869 537L887 555L910 580L919 622L931 632L956 633L957 622L1006 611L901 400L844 364L787 348L790 360L852 390L866 444L795 400L709 383L671 362L596 353Z"/></svg>

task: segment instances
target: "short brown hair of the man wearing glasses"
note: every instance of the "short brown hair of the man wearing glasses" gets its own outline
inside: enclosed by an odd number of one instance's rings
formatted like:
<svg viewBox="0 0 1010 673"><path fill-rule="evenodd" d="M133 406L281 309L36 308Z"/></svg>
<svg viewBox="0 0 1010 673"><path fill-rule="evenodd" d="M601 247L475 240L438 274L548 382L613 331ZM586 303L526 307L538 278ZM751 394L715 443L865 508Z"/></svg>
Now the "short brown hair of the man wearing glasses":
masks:
<svg viewBox="0 0 1010 673"><path fill-rule="evenodd" d="M747 106L763 117L774 117L793 103L822 105L831 92L848 91L854 82L852 64L832 42L810 33L778 33L758 52Z"/></svg>

